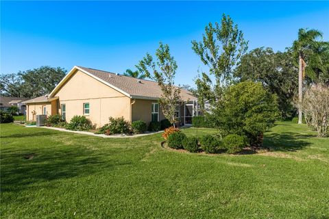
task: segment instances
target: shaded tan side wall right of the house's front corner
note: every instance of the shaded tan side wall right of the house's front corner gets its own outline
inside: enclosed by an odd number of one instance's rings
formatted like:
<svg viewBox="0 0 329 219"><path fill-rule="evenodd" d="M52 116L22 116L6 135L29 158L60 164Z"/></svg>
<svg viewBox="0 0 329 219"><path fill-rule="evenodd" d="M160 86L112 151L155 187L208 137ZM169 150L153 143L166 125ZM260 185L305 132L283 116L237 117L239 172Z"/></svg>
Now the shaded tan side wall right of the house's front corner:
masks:
<svg viewBox="0 0 329 219"><path fill-rule="evenodd" d="M134 104L132 105L132 121L143 120L145 123L149 124L151 122L152 103L158 103L158 101L142 99L134 99L133 101ZM159 121L162 119L164 119L164 115L162 114L160 107Z"/></svg>

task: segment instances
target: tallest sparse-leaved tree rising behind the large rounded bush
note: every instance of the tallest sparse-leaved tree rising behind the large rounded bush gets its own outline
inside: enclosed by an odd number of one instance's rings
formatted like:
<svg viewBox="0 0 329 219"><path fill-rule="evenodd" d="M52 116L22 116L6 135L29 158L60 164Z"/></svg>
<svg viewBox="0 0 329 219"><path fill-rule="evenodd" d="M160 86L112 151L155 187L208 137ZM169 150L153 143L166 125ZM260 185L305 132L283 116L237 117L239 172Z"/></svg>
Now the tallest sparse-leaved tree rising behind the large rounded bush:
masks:
<svg viewBox="0 0 329 219"><path fill-rule="evenodd" d="M210 75L215 77L215 84L206 83L215 92L215 98L221 96L221 87L230 83L233 69L239 64L241 55L247 51L247 42L243 38L243 32L230 16L223 14L221 23L209 23L205 28L202 41L192 41L193 51L200 57L201 61L208 66ZM206 73L202 74L201 81L208 81L210 77ZM202 93L200 93L202 95Z"/></svg>

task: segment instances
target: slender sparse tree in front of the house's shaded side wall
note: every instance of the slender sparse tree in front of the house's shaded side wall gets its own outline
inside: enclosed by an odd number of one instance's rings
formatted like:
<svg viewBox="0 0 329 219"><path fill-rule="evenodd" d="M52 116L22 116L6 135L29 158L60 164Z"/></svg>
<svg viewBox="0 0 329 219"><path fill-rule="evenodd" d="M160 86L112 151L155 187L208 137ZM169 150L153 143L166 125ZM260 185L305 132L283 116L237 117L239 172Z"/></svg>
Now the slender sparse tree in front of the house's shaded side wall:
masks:
<svg viewBox="0 0 329 219"><path fill-rule="evenodd" d="M160 42L159 48L156 50L156 57L152 57L149 53L136 65L138 70L151 79L158 82L162 90L159 99L164 116L175 127L175 110L176 105L181 101L180 88L174 85L177 64L173 56L171 56L169 45Z"/></svg>

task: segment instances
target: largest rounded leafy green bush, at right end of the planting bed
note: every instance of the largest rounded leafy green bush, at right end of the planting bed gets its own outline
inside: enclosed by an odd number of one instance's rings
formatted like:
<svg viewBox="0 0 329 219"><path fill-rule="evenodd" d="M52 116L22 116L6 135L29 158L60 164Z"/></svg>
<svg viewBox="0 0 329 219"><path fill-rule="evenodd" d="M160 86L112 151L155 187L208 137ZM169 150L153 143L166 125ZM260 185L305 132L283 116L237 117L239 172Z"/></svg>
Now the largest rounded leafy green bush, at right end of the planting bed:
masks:
<svg viewBox="0 0 329 219"><path fill-rule="evenodd" d="M217 127L227 133L247 136L251 146L258 146L267 129L280 118L277 97L261 83L245 81L230 86L212 115Z"/></svg>

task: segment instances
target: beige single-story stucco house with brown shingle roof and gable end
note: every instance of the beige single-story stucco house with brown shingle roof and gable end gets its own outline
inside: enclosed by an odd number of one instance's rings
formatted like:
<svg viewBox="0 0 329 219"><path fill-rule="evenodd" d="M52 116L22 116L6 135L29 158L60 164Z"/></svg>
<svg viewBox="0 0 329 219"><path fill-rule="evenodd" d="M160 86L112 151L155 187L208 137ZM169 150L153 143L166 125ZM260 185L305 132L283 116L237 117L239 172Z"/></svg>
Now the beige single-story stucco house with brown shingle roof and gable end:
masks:
<svg viewBox="0 0 329 219"><path fill-rule="evenodd" d="M60 114L66 121L83 115L97 127L108 123L110 116L123 116L129 122L160 121L164 119L158 103L161 93L155 81L74 66L49 95L25 101L27 120L36 120L38 114ZM177 116L182 125L190 125L198 114L197 98L187 90L181 91L181 98Z"/></svg>

